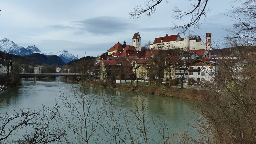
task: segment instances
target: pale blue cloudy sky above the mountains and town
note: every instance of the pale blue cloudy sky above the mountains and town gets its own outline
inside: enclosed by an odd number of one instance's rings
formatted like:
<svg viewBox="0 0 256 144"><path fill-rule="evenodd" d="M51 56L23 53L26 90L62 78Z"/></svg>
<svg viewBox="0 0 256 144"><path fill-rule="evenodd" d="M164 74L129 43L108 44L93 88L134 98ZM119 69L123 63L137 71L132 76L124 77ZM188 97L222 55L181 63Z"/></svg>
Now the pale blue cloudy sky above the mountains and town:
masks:
<svg viewBox="0 0 256 144"><path fill-rule="evenodd" d="M17 45L27 47L35 45L41 52L50 53L68 50L81 58L98 56L107 52L118 40L132 45L134 33L139 32L142 46L157 37L175 35L180 32L172 30L173 22L183 24L184 21L172 18L174 6L186 9L190 5L187 0L169 0L156 7L149 18L142 16L131 19L129 13L137 3L143 0L8 0L0 2L0 39L7 38ZM197 2L197 1L191 1ZM227 9L239 5L228 0L210 0L208 19L199 30L181 34L181 37L201 36L205 41L206 33L212 33L212 43L224 48L224 29L232 28L233 21L223 15ZM214 44L213 44L214 47ZM216 47L216 46L215 46Z"/></svg>

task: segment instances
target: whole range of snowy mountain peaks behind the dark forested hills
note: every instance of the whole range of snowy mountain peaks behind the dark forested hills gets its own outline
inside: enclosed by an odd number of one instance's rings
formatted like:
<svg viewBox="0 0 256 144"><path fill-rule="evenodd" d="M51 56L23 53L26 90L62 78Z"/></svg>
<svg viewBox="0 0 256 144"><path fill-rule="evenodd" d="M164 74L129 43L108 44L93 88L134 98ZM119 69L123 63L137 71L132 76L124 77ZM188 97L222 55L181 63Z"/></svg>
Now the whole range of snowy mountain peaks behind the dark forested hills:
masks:
<svg viewBox="0 0 256 144"><path fill-rule="evenodd" d="M44 54L35 45L24 48L22 46L18 46L13 41L7 38L0 40L0 51L9 53L9 54L14 54L14 55L21 55L21 56L30 55L34 53L43 54L47 57L56 55L56 56L59 56L65 63L68 63L71 60L77 60L77 57L70 54L67 50L59 51L57 53Z"/></svg>

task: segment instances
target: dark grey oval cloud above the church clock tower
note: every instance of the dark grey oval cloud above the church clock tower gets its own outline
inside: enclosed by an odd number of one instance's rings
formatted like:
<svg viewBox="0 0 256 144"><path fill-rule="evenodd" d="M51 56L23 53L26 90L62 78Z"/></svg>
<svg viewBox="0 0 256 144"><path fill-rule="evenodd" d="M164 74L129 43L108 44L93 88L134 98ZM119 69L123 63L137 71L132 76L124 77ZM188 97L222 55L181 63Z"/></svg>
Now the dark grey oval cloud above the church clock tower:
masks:
<svg viewBox="0 0 256 144"><path fill-rule="evenodd" d="M81 26L80 30L93 34L111 35L132 28L132 24L119 17L94 17L72 22Z"/></svg>

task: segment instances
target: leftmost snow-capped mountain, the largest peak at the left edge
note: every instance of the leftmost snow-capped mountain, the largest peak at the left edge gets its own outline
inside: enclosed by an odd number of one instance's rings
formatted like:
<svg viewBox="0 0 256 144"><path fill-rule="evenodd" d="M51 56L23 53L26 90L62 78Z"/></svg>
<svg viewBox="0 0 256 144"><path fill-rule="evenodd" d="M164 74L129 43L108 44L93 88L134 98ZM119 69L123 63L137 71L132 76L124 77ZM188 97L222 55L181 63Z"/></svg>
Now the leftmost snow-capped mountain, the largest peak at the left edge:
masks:
<svg viewBox="0 0 256 144"><path fill-rule="evenodd" d="M22 47L15 44L13 41L4 38L0 40L0 50L5 53L15 54L15 55L29 55L29 51Z"/></svg>

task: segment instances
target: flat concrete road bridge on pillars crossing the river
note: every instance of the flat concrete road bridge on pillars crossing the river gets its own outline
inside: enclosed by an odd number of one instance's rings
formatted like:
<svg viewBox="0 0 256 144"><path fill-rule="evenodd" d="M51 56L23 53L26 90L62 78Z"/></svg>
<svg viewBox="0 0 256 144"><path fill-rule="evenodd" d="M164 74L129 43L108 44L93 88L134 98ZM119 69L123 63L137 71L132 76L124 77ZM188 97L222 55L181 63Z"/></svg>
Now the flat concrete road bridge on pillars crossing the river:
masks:
<svg viewBox="0 0 256 144"><path fill-rule="evenodd" d="M34 76L34 81L36 82L36 76L54 76L54 77L61 77L66 76L67 82L69 76L77 76L80 77L82 74L79 73L19 73L20 76Z"/></svg>

